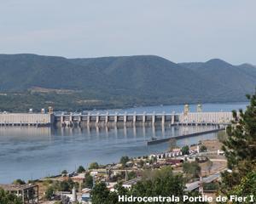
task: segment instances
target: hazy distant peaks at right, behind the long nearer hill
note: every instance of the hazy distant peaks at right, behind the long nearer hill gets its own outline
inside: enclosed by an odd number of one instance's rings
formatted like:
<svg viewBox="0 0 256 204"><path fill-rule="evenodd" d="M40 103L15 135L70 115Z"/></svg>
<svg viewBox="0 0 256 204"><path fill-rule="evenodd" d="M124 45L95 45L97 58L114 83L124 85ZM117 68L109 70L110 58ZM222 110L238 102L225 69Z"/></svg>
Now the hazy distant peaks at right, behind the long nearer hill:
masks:
<svg viewBox="0 0 256 204"><path fill-rule="evenodd" d="M211 59L205 63L182 63L184 67L195 71L207 81L218 83L223 92L228 91L229 98L252 93L256 85L256 68L253 65L230 65L222 59ZM219 90L221 91L221 90Z"/></svg>

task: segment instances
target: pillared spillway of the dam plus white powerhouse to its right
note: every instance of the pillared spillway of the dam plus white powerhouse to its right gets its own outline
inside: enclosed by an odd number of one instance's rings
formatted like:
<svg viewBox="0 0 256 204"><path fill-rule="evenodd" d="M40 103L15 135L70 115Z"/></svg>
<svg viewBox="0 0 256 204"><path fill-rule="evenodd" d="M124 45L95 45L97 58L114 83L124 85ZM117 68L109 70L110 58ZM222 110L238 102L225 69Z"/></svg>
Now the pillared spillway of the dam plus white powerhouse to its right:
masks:
<svg viewBox="0 0 256 204"><path fill-rule="evenodd" d="M108 126L108 125L136 125L136 124L171 124L171 125L220 125L230 124L232 112L191 112L191 113L123 113L108 114L96 113L61 114L55 115L55 124L72 127L85 126Z"/></svg>

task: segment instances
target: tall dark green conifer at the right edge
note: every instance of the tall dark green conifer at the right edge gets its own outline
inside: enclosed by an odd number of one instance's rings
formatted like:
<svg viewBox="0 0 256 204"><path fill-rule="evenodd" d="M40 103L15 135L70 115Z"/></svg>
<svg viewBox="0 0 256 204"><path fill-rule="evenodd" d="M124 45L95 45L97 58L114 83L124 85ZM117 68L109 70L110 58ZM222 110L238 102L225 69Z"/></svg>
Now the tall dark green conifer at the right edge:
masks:
<svg viewBox="0 0 256 204"><path fill-rule="evenodd" d="M233 122L227 128L223 150L229 171L222 173L222 192L227 194L256 167L256 95L247 95L246 111L233 111Z"/></svg>

